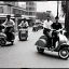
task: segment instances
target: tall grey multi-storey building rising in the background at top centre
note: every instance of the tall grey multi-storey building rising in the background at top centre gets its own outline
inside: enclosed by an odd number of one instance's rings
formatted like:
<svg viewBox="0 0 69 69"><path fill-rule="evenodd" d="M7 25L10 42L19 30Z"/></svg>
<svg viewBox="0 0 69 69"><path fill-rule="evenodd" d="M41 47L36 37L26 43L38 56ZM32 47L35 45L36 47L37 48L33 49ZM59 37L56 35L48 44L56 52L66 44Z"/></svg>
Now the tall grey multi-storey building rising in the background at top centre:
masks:
<svg viewBox="0 0 69 69"><path fill-rule="evenodd" d="M29 16L36 16L37 4L33 1L26 2L26 14Z"/></svg>

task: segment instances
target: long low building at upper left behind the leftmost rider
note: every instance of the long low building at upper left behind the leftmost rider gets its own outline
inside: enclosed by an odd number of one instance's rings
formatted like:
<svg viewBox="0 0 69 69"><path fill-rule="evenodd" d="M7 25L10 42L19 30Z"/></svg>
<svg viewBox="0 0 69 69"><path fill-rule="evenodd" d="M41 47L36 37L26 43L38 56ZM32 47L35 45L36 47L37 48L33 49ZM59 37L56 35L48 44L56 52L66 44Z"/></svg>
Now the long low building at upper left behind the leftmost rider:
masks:
<svg viewBox="0 0 69 69"><path fill-rule="evenodd" d="M18 2L2 2L0 3L0 22L3 23L8 14L15 22L15 29L17 30L17 25L20 19L25 17L26 10L18 6Z"/></svg>

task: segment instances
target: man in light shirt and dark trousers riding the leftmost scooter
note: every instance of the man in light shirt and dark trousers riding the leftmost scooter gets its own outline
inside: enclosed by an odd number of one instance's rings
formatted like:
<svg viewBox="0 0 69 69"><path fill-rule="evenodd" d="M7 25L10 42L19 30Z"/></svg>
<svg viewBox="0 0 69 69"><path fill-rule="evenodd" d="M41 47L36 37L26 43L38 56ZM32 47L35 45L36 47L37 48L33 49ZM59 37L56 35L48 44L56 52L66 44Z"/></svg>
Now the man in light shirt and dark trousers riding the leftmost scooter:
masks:
<svg viewBox="0 0 69 69"><path fill-rule="evenodd" d="M13 34L15 23L11 19L11 15L6 15L6 20L2 25L5 27L6 40L13 43L15 39Z"/></svg>

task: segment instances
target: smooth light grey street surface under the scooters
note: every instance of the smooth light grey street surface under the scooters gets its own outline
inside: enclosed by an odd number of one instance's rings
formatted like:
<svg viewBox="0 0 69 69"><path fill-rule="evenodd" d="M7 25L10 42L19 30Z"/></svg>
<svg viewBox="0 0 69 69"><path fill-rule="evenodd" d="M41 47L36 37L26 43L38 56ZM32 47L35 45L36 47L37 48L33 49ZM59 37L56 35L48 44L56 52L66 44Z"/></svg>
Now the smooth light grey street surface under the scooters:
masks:
<svg viewBox="0 0 69 69"><path fill-rule="evenodd" d="M34 43L40 36L42 30L29 31L27 41L19 41L16 36L14 45L0 46L0 68L69 68L69 59L60 59L57 53L37 52Z"/></svg>

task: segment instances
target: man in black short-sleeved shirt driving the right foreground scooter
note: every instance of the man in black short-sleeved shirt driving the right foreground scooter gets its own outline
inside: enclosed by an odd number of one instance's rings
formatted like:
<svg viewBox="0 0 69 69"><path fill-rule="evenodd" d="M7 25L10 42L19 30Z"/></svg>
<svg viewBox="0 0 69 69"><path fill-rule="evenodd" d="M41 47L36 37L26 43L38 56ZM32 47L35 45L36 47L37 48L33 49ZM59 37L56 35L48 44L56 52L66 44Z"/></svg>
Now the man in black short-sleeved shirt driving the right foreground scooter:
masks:
<svg viewBox="0 0 69 69"><path fill-rule="evenodd" d="M61 26L61 24L58 22L58 17L56 16L55 17L55 20L56 20L56 23L53 23L52 24L52 29L54 29L54 30L56 30L56 31L61 31L63 30L63 26ZM55 37L53 38L53 47L55 47L55 44L56 44L56 41L58 41L59 40L59 38L58 38L58 36L57 36L57 33L52 33L52 36L53 34L55 34Z"/></svg>

